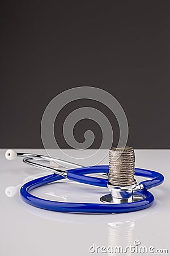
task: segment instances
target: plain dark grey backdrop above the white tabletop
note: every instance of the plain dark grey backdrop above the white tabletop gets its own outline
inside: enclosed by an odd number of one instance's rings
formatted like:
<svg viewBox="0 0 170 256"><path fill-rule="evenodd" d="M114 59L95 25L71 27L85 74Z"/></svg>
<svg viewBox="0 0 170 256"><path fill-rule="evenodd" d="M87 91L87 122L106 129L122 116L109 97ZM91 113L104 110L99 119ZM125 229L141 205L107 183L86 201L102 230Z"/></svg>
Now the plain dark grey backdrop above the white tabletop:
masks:
<svg viewBox="0 0 170 256"><path fill-rule="evenodd" d="M0 147L42 147L46 105L63 90L96 86L112 93L129 122L129 146L169 148L169 1L4 1L1 5ZM90 100L66 106L56 119L59 146L68 147L62 123L74 109L107 107ZM75 138L92 129L79 122Z"/></svg>

